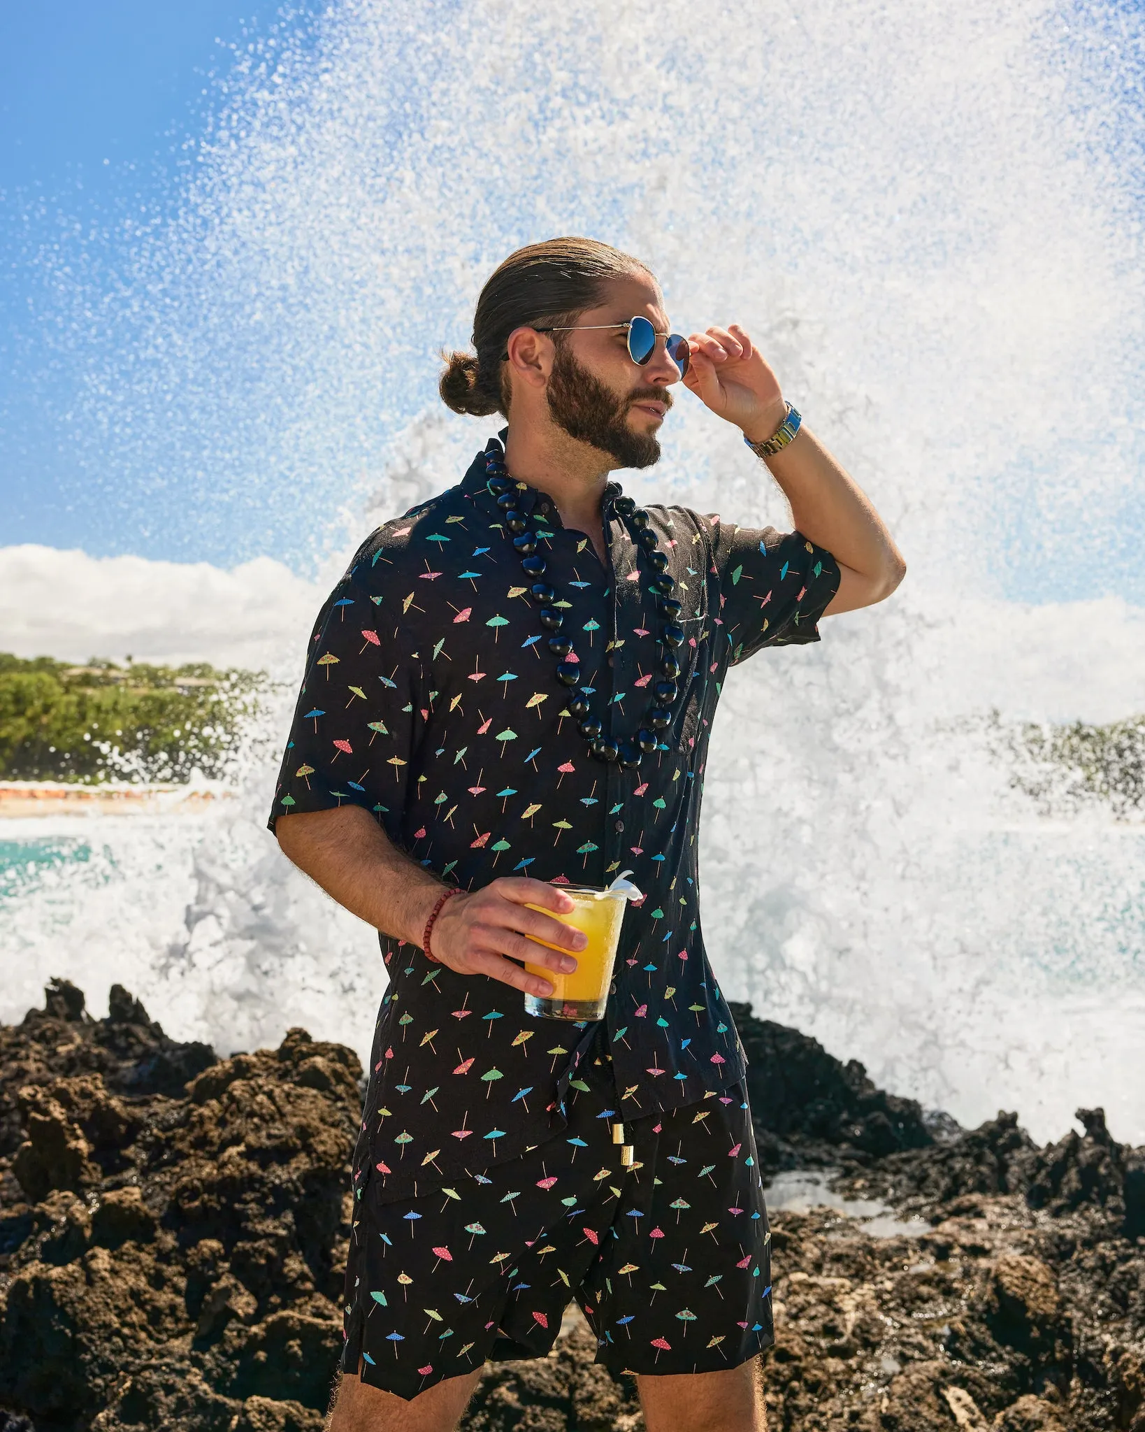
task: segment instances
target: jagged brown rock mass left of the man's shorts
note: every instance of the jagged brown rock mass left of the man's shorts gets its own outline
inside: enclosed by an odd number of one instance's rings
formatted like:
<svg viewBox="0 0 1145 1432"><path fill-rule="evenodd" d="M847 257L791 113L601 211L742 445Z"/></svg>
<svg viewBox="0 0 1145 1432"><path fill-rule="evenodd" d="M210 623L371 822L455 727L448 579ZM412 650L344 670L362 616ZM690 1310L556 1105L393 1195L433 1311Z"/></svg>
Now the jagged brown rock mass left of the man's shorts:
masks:
<svg viewBox="0 0 1145 1432"><path fill-rule="evenodd" d="M192 1097L156 1087L160 1058ZM0 1028L23 1120L0 1154L20 1180L0 1180L0 1408L37 1432L319 1432L359 1073L303 1031L205 1068L123 990L93 1021L56 982Z"/></svg>

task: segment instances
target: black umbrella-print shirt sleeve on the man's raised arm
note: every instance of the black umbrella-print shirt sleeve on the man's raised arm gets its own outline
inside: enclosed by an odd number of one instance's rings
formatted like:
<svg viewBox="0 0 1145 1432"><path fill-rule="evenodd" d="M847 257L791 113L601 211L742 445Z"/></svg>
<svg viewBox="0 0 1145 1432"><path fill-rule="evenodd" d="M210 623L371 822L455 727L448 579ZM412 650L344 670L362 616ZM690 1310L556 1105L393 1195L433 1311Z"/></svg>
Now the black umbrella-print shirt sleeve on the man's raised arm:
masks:
<svg viewBox="0 0 1145 1432"><path fill-rule="evenodd" d="M803 533L718 524L714 567L729 664L766 646L819 640L819 619L839 590L839 563Z"/></svg>

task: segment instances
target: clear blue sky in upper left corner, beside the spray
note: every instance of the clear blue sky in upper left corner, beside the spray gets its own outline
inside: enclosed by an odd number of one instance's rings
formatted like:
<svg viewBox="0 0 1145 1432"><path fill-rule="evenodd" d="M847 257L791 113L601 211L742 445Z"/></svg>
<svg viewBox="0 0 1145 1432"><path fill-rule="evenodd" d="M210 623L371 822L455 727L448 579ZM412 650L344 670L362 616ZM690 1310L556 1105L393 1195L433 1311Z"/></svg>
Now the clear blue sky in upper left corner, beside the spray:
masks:
<svg viewBox="0 0 1145 1432"><path fill-rule="evenodd" d="M106 546L59 435L72 379L31 261L62 232L162 213L212 76L278 23L268 0L0 0L0 546Z"/></svg>

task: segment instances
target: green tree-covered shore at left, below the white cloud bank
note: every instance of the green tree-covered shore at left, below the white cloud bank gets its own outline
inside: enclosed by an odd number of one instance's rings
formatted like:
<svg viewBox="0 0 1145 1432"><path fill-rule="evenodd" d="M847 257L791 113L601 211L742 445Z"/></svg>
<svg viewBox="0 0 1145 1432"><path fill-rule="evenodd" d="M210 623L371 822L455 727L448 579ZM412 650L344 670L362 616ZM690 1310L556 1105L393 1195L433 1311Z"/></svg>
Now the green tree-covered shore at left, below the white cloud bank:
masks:
<svg viewBox="0 0 1145 1432"><path fill-rule="evenodd" d="M220 776L265 677L209 666L69 666L0 653L0 779Z"/></svg>

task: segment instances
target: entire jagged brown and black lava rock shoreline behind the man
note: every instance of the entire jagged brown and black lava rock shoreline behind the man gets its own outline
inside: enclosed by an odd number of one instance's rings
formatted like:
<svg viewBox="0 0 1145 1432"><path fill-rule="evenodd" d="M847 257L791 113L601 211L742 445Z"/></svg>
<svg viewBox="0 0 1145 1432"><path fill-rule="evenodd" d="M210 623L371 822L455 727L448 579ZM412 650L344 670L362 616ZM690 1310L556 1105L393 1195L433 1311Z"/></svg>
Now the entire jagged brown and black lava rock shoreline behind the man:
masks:
<svg viewBox="0 0 1145 1432"><path fill-rule="evenodd" d="M736 1007L760 1160L923 1220L773 1216L773 1432L1145 1432L1145 1148L1041 1148L886 1094ZM0 1432L319 1432L361 1068L291 1030L218 1060L113 987L0 1027ZM471 1432L635 1432L578 1319L487 1369Z"/></svg>

